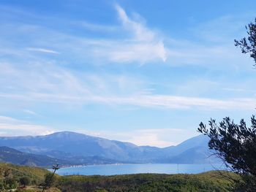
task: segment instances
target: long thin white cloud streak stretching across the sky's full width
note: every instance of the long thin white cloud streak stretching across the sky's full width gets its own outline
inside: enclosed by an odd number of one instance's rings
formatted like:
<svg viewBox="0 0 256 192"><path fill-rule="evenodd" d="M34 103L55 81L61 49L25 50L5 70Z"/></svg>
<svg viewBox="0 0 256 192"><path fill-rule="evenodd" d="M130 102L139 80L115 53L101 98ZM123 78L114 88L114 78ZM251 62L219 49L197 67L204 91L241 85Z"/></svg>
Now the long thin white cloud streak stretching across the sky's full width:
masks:
<svg viewBox="0 0 256 192"><path fill-rule="evenodd" d="M138 107L158 107L166 109L197 109L197 110L247 110L255 109L253 98L239 99L208 99L200 97L171 96L171 95L135 95L135 96L104 96L86 95L83 93L0 93L1 98L20 99L24 101L40 101L62 104L102 103L109 105L135 105Z"/></svg>

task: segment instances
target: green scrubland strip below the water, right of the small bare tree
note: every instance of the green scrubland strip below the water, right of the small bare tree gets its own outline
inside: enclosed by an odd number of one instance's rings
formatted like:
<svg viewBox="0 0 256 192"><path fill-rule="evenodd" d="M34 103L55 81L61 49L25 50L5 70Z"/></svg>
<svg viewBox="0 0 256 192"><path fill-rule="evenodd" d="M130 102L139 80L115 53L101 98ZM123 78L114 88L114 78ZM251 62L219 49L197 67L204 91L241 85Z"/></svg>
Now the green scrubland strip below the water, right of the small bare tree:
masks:
<svg viewBox="0 0 256 192"><path fill-rule="evenodd" d="M222 172L222 174L227 174ZM230 177L237 177L231 174ZM116 176L64 176L61 191L231 191L232 182L217 172L204 174L127 174Z"/></svg>

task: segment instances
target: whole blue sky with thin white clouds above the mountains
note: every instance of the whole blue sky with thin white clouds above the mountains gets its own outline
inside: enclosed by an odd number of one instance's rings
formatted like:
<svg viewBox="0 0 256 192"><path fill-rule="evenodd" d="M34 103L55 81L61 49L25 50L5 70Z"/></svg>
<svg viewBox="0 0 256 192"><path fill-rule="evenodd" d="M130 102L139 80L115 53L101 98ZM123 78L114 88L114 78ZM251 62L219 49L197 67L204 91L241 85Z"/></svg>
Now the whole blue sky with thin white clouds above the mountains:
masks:
<svg viewBox="0 0 256 192"><path fill-rule="evenodd" d="M255 0L0 0L0 136L75 131L166 147L249 125L256 69L234 46Z"/></svg>

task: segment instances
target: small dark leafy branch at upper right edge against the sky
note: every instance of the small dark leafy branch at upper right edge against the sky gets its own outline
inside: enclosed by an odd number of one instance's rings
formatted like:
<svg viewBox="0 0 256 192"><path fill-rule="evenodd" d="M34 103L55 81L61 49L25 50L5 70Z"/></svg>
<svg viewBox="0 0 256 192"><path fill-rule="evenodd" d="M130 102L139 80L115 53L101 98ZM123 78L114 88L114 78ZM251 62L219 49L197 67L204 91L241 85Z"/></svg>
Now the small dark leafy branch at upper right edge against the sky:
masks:
<svg viewBox="0 0 256 192"><path fill-rule="evenodd" d="M248 37L244 37L241 40L235 39L236 47L241 48L242 53L249 53L249 55L255 60L254 66L256 66L256 18L255 23L249 23L245 26Z"/></svg>

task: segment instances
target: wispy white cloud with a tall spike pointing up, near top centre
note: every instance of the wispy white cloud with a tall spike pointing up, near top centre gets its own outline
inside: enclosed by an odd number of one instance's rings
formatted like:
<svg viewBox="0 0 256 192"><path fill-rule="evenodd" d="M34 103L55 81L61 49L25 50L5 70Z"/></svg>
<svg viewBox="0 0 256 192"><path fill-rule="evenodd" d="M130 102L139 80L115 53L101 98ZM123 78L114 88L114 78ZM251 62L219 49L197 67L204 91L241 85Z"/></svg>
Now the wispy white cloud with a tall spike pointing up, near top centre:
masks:
<svg viewBox="0 0 256 192"><path fill-rule="evenodd" d="M107 63L146 64L152 61L166 61L167 51L160 34L138 21L129 18L124 9L115 5L122 26L119 31L124 33L122 39L94 39L91 53L99 61ZM91 42L91 41L90 41Z"/></svg>

